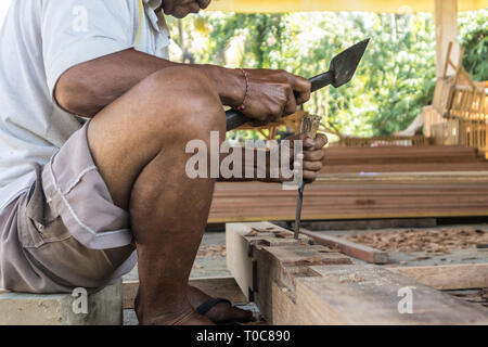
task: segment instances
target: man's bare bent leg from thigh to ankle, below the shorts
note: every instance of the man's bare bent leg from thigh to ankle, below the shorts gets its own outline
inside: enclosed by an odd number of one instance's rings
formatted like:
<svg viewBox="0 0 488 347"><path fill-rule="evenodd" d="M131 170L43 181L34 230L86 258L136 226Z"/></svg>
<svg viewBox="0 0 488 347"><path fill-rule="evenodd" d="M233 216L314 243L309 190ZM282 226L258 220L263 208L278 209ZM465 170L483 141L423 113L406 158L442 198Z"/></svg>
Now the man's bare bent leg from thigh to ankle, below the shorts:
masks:
<svg viewBox="0 0 488 347"><path fill-rule="evenodd" d="M211 324L192 308L188 278L208 218L215 180L185 175L190 140L223 141L219 95L206 75L160 70L90 123L92 155L114 203L130 210L139 256L142 324Z"/></svg>

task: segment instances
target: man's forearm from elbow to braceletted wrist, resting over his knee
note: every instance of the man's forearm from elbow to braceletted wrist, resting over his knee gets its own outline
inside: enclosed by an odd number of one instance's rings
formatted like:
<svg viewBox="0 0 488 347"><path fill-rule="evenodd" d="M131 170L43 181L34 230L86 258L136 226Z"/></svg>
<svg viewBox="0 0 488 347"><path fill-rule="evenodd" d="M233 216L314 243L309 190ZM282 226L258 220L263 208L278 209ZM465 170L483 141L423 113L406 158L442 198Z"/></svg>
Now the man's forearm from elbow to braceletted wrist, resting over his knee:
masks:
<svg viewBox="0 0 488 347"><path fill-rule="evenodd" d="M65 72L57 81L55 99L68 112L92 117L150 75L180 65L133 49L117 52ZM222 104L239 104L243 93L243 78L239 70L215 65L185 66L205 72L215 81Z"/></svg>

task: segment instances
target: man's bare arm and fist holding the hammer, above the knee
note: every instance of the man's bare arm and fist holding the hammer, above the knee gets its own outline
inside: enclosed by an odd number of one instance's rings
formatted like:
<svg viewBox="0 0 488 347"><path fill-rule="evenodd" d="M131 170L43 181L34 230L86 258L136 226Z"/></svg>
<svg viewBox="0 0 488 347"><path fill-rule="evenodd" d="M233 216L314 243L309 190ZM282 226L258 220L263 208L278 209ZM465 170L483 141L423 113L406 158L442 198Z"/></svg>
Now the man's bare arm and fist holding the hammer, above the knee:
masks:
<svg viewBox="0 0 488 347"><path fill-rule="evenodd" d="M54 97L64 110L93 117L106 105L150 75L166 67L182 65L133 49L76 65L59 79ZM216 65L185 65L198 68L215 82L223 105L239 106L245 94L245 78L240 69ZM248 117L270 121L296 112L310 99L310 82L283 70L252 69L246 108ZM294 92L298 95L295 98ZM164 98L164 91L162 91Z"/></svg>

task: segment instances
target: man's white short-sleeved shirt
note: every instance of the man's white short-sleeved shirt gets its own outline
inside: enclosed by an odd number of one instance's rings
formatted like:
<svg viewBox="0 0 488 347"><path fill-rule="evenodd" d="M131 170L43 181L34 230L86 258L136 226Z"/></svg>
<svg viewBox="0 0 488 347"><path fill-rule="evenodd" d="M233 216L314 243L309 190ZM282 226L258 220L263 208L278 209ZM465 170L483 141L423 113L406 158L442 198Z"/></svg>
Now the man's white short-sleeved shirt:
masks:
<svg viewBox="0 0 488 347"><path fill-rule="evenodd" d="M15 0L0 29L0 210L81 127L52 95L77 64L126 49L168 59L162 0Z"/></svg>

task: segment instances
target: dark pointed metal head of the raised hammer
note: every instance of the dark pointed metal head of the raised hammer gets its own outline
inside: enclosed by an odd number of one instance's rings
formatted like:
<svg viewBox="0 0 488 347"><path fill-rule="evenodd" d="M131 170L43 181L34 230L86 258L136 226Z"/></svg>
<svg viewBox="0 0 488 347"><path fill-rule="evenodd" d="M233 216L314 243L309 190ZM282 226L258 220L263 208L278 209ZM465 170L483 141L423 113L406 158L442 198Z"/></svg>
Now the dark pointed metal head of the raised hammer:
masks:
<svg viewBox="0 0 488 347"><path fill-rule="evenodd" d="M370 43L370 39L356 43L332 60L330 69L334 74L332 86L338 88L351 80L368 43Z"/></svg>

